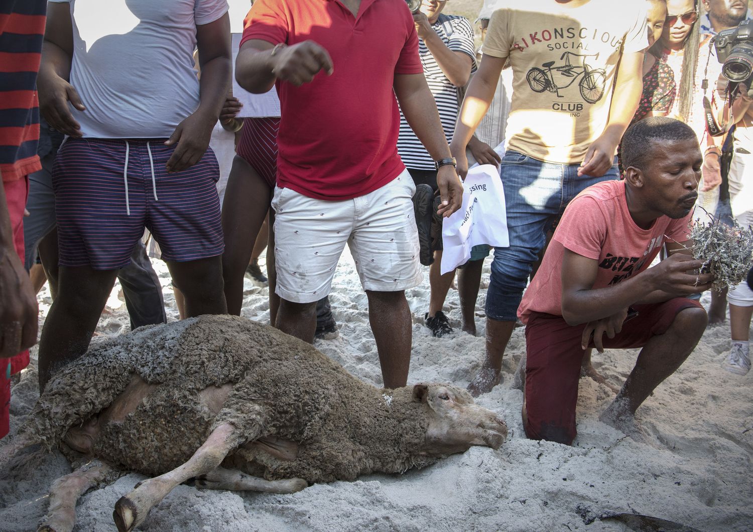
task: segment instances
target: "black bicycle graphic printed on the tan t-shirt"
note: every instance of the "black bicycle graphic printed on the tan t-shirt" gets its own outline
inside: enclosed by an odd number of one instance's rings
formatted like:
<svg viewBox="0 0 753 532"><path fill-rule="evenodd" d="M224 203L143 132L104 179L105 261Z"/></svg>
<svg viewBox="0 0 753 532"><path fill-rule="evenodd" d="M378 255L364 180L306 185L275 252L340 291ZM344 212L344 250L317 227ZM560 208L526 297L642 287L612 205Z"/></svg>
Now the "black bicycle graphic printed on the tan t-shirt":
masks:
<svg viewBox="0 0 753 532"><path fill-rule="evenodd" d="M550 93L555 93L557 98L564 98L559 94L559 90L566 89L575 83L575 80L581 78L578 82L578 88L581 90L581 96L588 103L598 102L604 95L604 86L606 82L606 73L603 68L591 68L586 64L585 60L583 65L573 65L570 62L570 58L575 57L594 57L598 58L598 53L591 53L586 55L580 55L578 53L565 52L559 58L560 61L564 59L565 64L560 66L554 66L555 61L547 61L541 66L546 70L538 67L533 67L526 74L526 80L528 81L531 90L536 93L543 93L544 90L548 90ZM557 85L554 81L554 75L552 71L559 73L559 76L564 78L572 78L566 85Z"/></svg>

